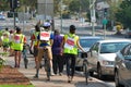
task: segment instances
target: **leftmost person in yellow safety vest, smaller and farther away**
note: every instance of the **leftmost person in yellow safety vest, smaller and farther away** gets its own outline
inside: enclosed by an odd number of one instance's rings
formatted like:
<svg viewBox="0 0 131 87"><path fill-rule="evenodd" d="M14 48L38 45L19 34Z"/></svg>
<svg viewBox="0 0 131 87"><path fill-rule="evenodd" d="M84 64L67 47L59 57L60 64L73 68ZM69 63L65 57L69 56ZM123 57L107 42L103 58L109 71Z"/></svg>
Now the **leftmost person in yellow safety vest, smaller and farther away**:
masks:
<svg viewBox="0 0 131 87"><path fill-rule="evenodd" d="M5 30L3 32L3 38L2 38L2 46L3 46L4 52L8 52L8 48L10 46L9 36L10 36L9 28L5 28Z"/></svg>

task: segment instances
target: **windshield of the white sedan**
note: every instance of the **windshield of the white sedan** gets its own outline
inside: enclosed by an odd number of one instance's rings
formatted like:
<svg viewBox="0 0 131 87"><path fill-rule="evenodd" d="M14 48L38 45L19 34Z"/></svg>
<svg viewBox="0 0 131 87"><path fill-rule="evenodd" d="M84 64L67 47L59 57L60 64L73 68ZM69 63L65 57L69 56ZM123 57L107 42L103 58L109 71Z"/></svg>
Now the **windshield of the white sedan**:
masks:
<svg viewBox="0 0 131 87"><path fill-rule="evenodd" d="M121 50L128 44L130 44L130 42L107 42L107 44L102 44L100 53L115 53L115 52Z"/></svg>

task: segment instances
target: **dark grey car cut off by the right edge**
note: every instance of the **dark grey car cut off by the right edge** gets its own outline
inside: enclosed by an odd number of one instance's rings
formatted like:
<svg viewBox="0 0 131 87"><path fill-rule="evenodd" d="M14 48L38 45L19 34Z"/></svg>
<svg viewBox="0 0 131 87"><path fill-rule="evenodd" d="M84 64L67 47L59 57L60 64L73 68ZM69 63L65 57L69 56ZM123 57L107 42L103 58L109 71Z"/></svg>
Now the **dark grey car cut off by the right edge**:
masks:
<svg viewBox="0 0 131 87"><path fill-rule="evenodd" d="M117 52L115 83L116 87L131 87L131 44Z"/></svg>

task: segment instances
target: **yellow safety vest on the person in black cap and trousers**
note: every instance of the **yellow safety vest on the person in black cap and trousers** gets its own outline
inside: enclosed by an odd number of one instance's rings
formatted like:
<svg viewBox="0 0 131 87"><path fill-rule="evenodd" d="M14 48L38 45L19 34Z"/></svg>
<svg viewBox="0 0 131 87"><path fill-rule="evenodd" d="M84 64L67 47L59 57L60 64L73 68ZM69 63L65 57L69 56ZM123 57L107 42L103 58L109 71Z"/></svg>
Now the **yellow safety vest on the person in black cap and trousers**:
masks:
<svg viewBox="0 0 131 87"><path fill-rule="evenodd" d="M79 36L74 34L64 35L64 49L63 53L78 54L76 40Z"/></svg>

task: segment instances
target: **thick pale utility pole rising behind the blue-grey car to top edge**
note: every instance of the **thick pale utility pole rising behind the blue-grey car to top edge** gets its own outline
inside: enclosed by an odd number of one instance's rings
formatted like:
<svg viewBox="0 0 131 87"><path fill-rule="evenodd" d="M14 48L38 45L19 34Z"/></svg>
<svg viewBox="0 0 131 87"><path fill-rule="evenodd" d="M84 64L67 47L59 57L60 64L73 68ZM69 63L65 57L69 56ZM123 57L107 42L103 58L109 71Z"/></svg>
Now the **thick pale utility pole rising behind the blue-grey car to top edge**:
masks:
<svg viewBox="0 0 131 87"><path fill-rule="evenodd" d="M90 0L90 9L91 9L91 22L92 22L92 36L95 36L95 2L96 0Z"/></svg>

